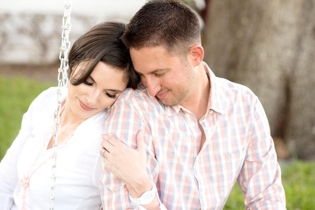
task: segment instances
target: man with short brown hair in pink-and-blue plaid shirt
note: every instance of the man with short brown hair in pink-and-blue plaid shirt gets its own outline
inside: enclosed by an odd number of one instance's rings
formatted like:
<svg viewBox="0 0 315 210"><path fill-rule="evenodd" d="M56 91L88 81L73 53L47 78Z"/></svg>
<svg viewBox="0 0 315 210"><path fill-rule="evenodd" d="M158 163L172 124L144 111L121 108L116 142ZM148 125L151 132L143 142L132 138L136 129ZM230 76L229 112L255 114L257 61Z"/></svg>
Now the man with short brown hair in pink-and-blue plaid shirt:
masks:
<svg viewBox="0 0 315 210"><path fill-rule="evenodd" d="M130 20L122 39L143 85L122 93L105 130L135 148L144 129L154 201L166 209L222 209L238 181L246 209L285 209L261 103L202 61L197 16L177 0L153 0ZM105 208L150 208L129 198L106 168L102 182ZM138 196L151 188L139 186Z"/></svg>

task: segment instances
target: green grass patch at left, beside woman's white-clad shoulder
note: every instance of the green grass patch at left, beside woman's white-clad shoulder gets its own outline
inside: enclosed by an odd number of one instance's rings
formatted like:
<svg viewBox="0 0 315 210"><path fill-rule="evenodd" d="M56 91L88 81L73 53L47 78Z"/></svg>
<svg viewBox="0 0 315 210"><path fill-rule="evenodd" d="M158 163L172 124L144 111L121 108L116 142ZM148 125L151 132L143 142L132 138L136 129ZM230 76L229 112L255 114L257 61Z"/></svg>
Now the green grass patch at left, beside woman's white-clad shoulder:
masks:
<svg viewBox="0 0 315 210"><path fill-rule="evenodd" d="M0 160L19 133L23 114L31 102L53 83L24 77L0 76Z"/></svg>

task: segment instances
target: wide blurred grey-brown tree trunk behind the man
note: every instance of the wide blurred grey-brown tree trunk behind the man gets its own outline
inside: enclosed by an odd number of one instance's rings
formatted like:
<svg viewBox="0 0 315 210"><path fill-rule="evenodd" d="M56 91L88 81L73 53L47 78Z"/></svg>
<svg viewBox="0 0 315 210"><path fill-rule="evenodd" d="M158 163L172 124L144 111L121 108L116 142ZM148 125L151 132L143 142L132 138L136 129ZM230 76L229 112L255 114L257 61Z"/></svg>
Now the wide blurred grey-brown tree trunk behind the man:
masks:
<svg viewBox="0 0 315 210"><path fill-rule="evenodd" d="M211 0L204 60L219 77L248 86L273 137L315 158L315 1Z"/></svg>

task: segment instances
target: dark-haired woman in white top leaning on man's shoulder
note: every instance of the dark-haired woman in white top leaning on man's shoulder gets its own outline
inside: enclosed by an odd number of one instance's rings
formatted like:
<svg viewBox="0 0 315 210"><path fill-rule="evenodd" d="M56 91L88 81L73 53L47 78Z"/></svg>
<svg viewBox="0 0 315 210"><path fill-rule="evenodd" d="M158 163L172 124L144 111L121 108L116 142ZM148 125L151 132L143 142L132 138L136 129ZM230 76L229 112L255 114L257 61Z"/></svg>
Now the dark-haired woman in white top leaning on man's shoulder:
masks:
<svg viewBox="0 0 315 210"><path fill-rule="evenodd" d="M55 209L99 209L99 154L106 108L126 88L136 88L125 25L96 25L74 42L69 84L62 90ZM0 209L47 209L51 197L56 87L43 91L22 119L0 163Z"/></svg>

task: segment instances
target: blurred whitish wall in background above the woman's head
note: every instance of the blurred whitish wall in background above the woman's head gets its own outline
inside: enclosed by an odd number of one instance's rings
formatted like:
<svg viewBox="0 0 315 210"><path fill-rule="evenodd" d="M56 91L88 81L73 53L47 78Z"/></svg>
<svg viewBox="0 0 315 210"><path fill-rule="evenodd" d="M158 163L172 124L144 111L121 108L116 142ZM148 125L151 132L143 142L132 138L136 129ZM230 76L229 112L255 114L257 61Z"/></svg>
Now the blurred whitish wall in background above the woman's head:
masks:
<svg viewBox="0 0 315 210"><path fill-rule="evenodd" d="M127 23L144 0L72 0L70 40L103 21ZM0 1L0 63L49 64L59 58L63 0Z"/></svg>

